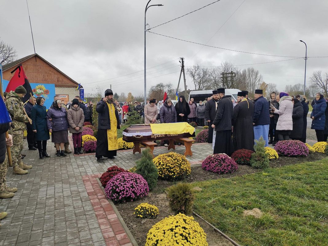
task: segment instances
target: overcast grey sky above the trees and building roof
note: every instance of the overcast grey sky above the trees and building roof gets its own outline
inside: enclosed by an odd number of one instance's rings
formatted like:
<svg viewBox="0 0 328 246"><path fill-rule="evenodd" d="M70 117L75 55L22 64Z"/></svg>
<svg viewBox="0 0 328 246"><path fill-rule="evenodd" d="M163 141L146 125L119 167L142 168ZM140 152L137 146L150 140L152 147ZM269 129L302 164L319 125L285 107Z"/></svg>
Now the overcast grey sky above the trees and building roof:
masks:
<svg viewBox="0 0 328 246"><path fill-rule="evenodd" d="M164 6L151 7L147 23L152 28L214 1L152 0L150 4ZM16 49L18 58L34 53L26 0L0 2L1 39ZM81 83L86 92L92 93L98 85L107 89L112 84L118 94L143 93L147 2L28 0L35 51ZM215 47L278 56L305 57L305 45L299 42L303 40L308 46L307 56L328 56L327 10L327 0L221 0L151 31ZM204 47L147 33L147 89L160 82L177 86L179 57L185 58L186 66L293 59ZM254 67L266 83L276 83L282 91L286 84L304 83L304 63L301 58L240 68ZM315 70L328 72L327 65L328 57L308 58L307 77ZM190 78L187 86L194 89Z"/></svg>

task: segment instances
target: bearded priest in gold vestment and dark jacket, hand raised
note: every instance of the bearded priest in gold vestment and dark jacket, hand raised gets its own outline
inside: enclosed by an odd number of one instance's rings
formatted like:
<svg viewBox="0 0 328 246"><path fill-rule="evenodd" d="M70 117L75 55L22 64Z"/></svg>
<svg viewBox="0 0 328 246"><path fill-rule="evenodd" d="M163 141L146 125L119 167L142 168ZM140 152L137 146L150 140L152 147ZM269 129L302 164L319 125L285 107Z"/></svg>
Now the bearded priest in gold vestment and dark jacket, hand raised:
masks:
<svg viewBox="0 0 328 246"><path fill-rule="evenodd" d="M115 159L118 150L117 129L120 129L120 121L116 105L113 103L113 91L107 89L105 97L97 102L98 133L97 133L97 161L108 157Z"/></svg>

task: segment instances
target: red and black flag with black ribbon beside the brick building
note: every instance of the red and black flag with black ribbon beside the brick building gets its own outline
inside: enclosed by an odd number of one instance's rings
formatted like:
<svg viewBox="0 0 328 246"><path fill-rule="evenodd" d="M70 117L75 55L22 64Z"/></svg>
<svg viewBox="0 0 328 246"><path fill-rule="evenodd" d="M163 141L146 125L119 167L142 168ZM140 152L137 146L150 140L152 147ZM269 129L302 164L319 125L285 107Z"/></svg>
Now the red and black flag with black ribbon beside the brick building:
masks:
<svg viewBox="0 0 328 246"><path fill-rule="evenodd" d="M16 71L16 72L15 72ZM22 64L20 64L17 68L15 68L11 73L15 72L14 76L10 79L9 84L7 86L6 92L15 91L15 89L22 85L26 90L26 95L23 97L23 103L29 100L31 97L30 93L32 93L32 88L29 80L26 77Z"/></svg>

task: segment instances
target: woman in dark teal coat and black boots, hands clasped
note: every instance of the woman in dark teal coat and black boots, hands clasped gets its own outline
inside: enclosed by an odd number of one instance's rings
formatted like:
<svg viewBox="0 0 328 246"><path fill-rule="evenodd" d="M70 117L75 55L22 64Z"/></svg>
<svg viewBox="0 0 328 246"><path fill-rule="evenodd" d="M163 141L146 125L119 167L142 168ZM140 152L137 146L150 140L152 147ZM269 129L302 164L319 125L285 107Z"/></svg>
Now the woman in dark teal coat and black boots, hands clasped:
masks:
<svg viewBox="0 0 328 246"><path fill-rule="evenodd" d="M50 139L50 136L47 127L47 109L43 105L45 100L42 96L38 96L35 106L31 109L32 130L36 133L40 159L50 157L47 154L47 140Z"/></svg>

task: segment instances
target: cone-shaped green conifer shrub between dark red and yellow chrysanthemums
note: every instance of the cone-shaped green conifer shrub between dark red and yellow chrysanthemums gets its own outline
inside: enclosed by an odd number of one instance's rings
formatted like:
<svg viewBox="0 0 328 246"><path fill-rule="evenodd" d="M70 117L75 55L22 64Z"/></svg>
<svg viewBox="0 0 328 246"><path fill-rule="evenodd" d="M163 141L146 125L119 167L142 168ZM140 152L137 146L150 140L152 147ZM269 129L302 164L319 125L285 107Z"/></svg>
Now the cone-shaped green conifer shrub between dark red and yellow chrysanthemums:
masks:
<svg viewBox="0 0 328 246"><path fill-rule="evenodd" d="M268 154L266 153L266 150L264 148L265 141L263 137L261 136L259 140L255 139L256 144L254 145L255 153L251 155L250 164L254 168L267 168L269 167L269 158Z"/></svg>

